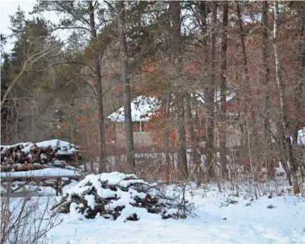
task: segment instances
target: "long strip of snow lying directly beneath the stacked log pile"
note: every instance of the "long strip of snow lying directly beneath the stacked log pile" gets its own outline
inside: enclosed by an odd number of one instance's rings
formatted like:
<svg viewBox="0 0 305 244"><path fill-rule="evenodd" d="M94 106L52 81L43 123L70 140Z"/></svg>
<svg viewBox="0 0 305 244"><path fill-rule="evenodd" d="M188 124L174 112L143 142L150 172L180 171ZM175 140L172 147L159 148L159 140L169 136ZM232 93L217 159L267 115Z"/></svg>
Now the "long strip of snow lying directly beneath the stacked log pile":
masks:
<svg viewBox="0 0 305 244"><path fill-rule="evenodd" d="M76 176L78 172L74 170L66 170L60 168L46 168L43 170L31 170L20 172L1 172L0 177L38 177L38 176Z"/></svg>

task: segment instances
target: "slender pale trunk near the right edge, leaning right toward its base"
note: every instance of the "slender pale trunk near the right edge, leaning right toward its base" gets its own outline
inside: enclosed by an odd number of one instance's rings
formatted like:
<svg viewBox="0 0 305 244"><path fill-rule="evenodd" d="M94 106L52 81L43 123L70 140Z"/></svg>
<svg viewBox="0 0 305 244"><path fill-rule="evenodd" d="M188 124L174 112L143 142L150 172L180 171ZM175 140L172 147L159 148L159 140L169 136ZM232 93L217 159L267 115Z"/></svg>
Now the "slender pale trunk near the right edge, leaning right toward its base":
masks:
<svg viewBox="0 0 305 244"><path fill-rule="evenodd" d="M289 161L290 171L292 173L292 184L294 187L294 194L299 194L299 182L296 176L297 166L294 160L292 151L292 142L290 140L289 122L287 118L287 105L284 83L281 77L281 62L279 57L279 2L275 1L275 26L274 26L274 46L275 46L275 74L277 77L277 87L279 89L279 100L281 105L282 124L284 127L284 135L286 140L287 158Z"/></svg>

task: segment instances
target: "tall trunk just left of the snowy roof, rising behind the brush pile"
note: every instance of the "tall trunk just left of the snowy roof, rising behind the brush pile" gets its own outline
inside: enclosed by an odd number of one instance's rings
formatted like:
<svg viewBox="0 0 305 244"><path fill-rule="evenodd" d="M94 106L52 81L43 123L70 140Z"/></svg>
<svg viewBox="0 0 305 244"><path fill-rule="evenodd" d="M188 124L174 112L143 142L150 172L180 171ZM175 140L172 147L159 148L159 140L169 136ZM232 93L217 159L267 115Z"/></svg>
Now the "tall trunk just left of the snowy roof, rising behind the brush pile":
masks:
<svg viewBox="0 0 305 244"><path fill-rule="evenodd" d="M91 42L96 41L96 28L94 18L94 6L92 1L88 1L89 15L90 15L90 33ZM103 89L101 87L101 66L99 63L99 56L94 54L94 72L95 72L95 86L96 99L99 117L99 172L106 171L106 157L105 157L105 131L104 131L104 104L103 104Z"/></svg>

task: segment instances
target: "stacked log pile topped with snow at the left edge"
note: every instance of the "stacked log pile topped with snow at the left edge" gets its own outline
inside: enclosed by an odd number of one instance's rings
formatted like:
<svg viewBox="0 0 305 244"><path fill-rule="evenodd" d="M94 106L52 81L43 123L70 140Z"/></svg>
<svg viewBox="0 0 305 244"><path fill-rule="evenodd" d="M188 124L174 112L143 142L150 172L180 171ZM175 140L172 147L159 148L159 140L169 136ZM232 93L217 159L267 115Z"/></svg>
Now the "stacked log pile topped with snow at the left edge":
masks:
<svg viewBox="0 0 305 244"><path fill-rule="evenodd" d="M81 160L80 148L62 140L1 145L1 172L40 170L45 166L65 167Z"/></svg>

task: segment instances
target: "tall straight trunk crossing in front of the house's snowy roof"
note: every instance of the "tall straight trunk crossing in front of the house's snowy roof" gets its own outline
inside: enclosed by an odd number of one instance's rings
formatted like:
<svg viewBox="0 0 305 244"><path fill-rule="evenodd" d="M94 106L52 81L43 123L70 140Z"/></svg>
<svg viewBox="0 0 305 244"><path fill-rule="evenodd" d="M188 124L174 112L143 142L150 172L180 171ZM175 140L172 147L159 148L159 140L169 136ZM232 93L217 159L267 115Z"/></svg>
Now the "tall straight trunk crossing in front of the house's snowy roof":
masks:
<svg viewBox="0 0 305 244"><path fill-rule="evenodd" d="M125 9L124 1L117 1L118 6L118 35L121 49L121 79L124 84L124 125L126 133L126 153L128 163L134 172L135 152L133 145L133 121L131 118L131 82L128 78L128 53L125 34Z"/></svg>

